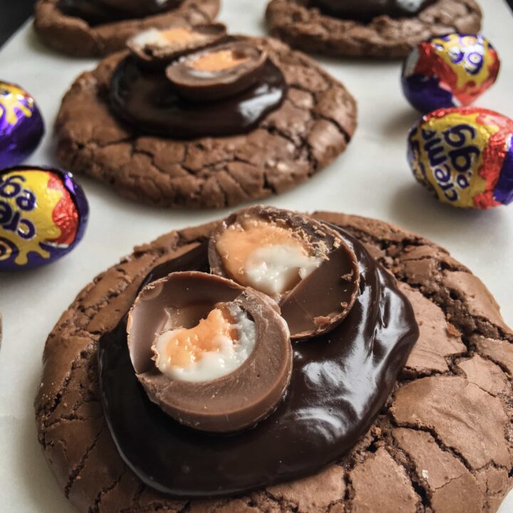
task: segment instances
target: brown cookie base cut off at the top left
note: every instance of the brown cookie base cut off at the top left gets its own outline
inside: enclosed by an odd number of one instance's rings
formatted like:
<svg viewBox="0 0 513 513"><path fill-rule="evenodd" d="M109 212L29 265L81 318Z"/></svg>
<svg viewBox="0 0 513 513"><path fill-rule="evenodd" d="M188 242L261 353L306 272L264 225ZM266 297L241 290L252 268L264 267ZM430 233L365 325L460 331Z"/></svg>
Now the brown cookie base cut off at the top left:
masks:
<svg viewBox="0 0 513 513"><path fill-rule="evenodd" d="M165 28L180 20L204 24L219 12L219 0L184 0L178 9L144 19L90 26L80 18L63 14L57 6L59 1L38 0L34 28L48 46L76 57L105 56L123 50L127 39L145 28Z"/></svg>

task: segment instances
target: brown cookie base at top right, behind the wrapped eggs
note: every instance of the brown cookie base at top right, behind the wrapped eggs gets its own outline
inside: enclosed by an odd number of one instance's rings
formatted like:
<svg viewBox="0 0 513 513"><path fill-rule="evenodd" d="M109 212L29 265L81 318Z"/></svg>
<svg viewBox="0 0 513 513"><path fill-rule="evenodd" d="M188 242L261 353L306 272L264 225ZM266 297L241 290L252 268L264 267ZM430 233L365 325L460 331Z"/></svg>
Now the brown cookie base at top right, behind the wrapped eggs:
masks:
<svg viewBox="0 0 513 513"><path fill-rule="evenodd" d="M307 7L307 0L271 0L269 31L294 48L329 56L399 58L432 36L477 33L481 10L474 0L437 0L417 16L378 16L370 23L337 19Z"/></svg>

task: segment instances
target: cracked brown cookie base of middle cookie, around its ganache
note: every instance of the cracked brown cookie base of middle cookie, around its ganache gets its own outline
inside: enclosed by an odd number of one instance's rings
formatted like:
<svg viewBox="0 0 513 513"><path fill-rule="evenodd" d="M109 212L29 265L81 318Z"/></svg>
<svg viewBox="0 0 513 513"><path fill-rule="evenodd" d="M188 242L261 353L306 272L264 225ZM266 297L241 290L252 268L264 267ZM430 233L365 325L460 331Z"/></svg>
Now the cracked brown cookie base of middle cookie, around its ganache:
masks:
<svg viewBox="0 0 513 513"><path fill-rule="evenodd" d="M310 58L274 39L254 41L289 86L256 130L187 141L134 133L108 105L110 77L125 55L118 53L79 76L63 98L56 121L61 164L125 197L165 207L227 207L308 180L346 149L356 128L355 100Z"/></svg>

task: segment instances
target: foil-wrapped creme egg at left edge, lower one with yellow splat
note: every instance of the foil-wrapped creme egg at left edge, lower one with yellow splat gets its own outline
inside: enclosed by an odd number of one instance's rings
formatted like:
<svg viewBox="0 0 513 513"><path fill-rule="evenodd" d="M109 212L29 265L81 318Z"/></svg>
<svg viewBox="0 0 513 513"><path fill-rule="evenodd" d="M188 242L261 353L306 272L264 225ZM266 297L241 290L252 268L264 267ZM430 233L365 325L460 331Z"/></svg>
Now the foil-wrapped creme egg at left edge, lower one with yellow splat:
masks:
<svg viewBox="0 0 513 513"><path fill-rule="evenodd" d="M88 202L73 176L49 167L0 171L0 271L49 264L81 241Z"/></svg>

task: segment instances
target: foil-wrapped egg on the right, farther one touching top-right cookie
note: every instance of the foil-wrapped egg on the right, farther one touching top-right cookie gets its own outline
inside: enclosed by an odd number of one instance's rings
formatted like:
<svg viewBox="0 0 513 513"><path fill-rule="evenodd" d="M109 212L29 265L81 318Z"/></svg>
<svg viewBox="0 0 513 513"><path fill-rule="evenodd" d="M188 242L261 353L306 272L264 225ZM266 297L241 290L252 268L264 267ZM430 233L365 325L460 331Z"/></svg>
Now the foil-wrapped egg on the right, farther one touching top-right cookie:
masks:
<svg viewBox="0 0 513 513"><path fill-rule="evenodd" d="M401 83L408 101L428 113L470 105L497 80L500 61L487 38L450 33L413 48Z"/></svg>

